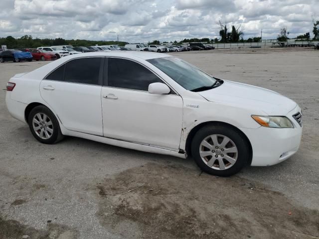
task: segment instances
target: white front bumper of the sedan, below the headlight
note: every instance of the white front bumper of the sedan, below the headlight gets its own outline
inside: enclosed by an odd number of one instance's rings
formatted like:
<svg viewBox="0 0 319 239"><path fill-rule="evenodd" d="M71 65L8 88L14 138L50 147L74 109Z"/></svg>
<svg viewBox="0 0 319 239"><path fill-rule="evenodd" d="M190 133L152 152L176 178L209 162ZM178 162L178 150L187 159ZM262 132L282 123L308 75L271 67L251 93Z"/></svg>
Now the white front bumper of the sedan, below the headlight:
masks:
<svg viewBox="0 0 319 239"><path fill-rule="evenodd" d="M292 117L301 113L297 106L286 117L292 121L294 128L259 127L240 128L250 140L253 150L251 166L270 166L280 163L295 154L300 145L303 128Z"/></svg>

